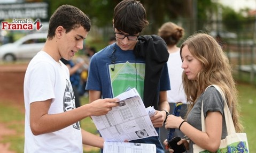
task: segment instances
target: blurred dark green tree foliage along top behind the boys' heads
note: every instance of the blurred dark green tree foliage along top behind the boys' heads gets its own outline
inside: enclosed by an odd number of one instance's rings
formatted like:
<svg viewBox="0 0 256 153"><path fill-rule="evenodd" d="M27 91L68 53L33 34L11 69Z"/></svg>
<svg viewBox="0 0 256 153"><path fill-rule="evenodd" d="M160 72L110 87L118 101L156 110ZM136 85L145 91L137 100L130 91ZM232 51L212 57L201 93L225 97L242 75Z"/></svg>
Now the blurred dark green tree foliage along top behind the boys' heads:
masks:
<svg viewBox="0 0 256 153"><path fill-rule="evenodd" d="M120 0L44 1L48 1L50 4L50 14L63 4L76 6L86 13L90 18L92 25L96 25L97 27L107 27L112 25L114 7L121 2ZM179 18L193 19L194 13L197 13L198 20L206 21L208 20L207 14L209 10L215 6L211 0L141 0L141 3L146 9L148 20L150 22L149 27L144 30L145 34L157 33L161 24L167 21L173 21Z"/></svg>

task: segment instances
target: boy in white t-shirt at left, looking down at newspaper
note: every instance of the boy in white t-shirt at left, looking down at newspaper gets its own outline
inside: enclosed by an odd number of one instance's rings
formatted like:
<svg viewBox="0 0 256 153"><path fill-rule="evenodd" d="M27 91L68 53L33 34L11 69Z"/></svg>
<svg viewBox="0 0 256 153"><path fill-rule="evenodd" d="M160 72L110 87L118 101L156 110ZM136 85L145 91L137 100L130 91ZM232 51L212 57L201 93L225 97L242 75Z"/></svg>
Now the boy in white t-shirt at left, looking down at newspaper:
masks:
<svg viewBox="0 0 256 153"><path fill-rule="evenodd" d="M103 148L104 139L80 128L80 120L105 115L119 99L97 99L75 108L69 70L71 60L90 30L79 8L61 5L52 14L44 47L29 62L24 79L24 152L83 152L83 145Z"/></svg>

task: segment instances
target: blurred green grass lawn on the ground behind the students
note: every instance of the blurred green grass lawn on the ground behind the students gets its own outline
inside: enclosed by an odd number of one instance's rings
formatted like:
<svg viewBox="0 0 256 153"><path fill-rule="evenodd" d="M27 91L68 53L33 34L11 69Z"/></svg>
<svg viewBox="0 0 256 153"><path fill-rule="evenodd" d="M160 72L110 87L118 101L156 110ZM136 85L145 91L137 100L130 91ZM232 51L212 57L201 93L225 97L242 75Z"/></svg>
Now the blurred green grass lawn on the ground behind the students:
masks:
<svg viewBox="0 0 256 153"><path fill-rule="evenodd" d="M241 105L241 117L245 132L247 133L250 152L256 153L256 145L254 142L256 138L256 131L254 130L256 126L256 86L240 83L237 88ZM81 100L82 104L88 103L88 98L83 97ZM0 122L4 123L7 128L15 130L16 134L4 136L0 142L10 142L10 149L14 150L16 153L24 152L24 113L20 113L21 111L17 107L6 104L8 104L8 101L0 100ZM91 133L98 134L94 123L92 123L89 117L81 121L81 128ZM84 146L84 152L99 152L99 149Z"/></svg>

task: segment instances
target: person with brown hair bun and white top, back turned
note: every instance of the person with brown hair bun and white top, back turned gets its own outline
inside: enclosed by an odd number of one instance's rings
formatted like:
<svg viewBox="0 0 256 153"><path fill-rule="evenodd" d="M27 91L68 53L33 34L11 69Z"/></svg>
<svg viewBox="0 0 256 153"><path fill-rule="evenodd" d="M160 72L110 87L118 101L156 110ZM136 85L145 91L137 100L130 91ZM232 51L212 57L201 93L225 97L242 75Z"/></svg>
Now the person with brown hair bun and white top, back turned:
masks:
<svg viewBox="0 0 256 153"><path fill-rule="evenodd" d="M184 36L184 29L173 22L166 22L161 25L158 30L158 36L165 40L168 47L169 58L167 61L170 84L172 88L167 91L167 100L170 105L170 114L173 113L173 109L176 102L182 102L180 116L185 117L187 112L187 99L182 85L182 73L181 68L182 61L180 56L180 48L177 44ZM164 127L160 128L161 142L167 138L168 129ZM175 130L174 137L183 137L184 134L179 130Z"/></svg>

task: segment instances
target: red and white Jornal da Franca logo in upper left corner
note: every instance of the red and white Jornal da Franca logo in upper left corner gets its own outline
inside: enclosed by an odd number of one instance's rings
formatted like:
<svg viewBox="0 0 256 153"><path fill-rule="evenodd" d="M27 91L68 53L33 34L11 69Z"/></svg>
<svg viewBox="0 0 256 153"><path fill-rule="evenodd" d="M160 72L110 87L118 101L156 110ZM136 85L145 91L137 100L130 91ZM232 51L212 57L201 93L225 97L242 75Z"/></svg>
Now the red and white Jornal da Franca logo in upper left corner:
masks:
<svg viewBox="0 0 256 153"><path fill-rule="evenodd" d="M2 22L2 30L39 30L42 26L39 19L13 19L12 22Z"/></svg>

